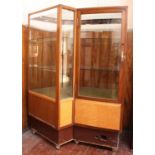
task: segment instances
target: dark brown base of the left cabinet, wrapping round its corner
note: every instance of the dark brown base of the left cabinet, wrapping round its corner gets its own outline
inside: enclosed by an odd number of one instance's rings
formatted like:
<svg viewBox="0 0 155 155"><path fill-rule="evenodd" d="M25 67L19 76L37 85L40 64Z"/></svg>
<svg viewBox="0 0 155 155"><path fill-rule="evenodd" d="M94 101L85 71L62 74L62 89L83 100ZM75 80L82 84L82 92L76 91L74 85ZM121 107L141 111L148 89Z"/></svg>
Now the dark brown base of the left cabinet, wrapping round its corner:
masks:
<svg viewBox="0 0 155 155"><path fill-rule="evenodd" d="M54 129L40 120L29 116L30 128L33 134L39 134L55 145L57 149L60 146L73 140L73 127L64 129Z"/></svg>

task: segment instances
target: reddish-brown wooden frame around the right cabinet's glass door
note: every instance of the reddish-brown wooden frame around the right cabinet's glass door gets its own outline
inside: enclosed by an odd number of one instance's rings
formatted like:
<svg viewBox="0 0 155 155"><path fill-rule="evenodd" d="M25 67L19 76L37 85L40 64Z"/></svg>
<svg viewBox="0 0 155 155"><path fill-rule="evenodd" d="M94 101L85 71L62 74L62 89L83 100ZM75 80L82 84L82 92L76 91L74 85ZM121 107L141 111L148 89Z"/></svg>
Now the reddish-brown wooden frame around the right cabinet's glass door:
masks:
<svg viewBox="0 0 155 155"><path fill-rule="evenodd" d="M127 7L93 7L93 8L80 8L77 9L77 40L76 40L76 92L75 97L80 99L87 99L87 100L94 100L94 101L105 101L105 102L112 102L112 103L123 103L124 102L124 61L121 62L120 73L119 73L119 88L118 88L118 99L107 99L107 98L96 98L96 97L86 97L79 95L79 75L80 75L80 68L79 68L79 61L80 61L80 25L81 25L81 15L82 14L95 14L95 13L121 13L122 14L122 31L121 31L121 50L124 56L126 54L126 47L127 47Z"/></svg>

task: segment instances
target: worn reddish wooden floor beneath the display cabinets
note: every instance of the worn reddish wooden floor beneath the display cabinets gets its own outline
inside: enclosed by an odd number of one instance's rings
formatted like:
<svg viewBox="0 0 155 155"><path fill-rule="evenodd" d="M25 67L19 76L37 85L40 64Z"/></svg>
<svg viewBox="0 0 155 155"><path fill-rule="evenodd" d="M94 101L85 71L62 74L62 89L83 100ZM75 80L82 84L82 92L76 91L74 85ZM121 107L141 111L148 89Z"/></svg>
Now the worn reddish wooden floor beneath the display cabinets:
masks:
<svg viewBox="0 0 155 155"><path fill-rule="evenodd" d="M63 145L60 150L55 149L54 145L43 139L42 137L32 134L27 130L22 135L22 151L23 155L133 155L132 150L125 142L122 136L119 150L112 152L111 150L74 142Z"/></svg>

